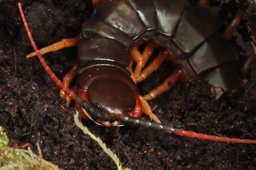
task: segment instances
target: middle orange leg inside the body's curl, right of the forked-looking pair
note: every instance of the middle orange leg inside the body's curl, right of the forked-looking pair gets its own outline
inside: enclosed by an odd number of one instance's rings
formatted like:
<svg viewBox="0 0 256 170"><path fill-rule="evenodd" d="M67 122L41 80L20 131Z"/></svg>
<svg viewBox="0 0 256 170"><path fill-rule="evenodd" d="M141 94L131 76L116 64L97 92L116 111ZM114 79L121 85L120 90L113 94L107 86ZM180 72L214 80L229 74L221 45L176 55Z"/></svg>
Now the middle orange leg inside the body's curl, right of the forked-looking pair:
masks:
<svg viewBox="0 0 256 170"><path fill-rule="evenodd" d="M145 80L153 71L156 71L161 64L167 59L169 56L168 52L162 50L158 56L146 67L141 73L140 76L137 78L136 82L140 82Z"/></svg>

